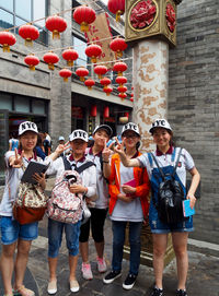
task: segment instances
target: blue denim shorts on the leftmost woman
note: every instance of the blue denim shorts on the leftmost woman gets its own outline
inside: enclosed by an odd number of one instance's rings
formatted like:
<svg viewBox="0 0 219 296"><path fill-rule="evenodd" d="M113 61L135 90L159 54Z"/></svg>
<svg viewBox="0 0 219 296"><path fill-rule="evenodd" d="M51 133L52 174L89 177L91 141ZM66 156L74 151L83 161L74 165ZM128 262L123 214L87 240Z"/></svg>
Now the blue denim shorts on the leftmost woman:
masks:
<svg viewBox="0 0 219 296"><path fill-rule="evenodd" d="M23 240L33 240L38 236L38 222L21 225L11 216L1 216L0 228L2 245L11 245L19 238Z"/></svg>

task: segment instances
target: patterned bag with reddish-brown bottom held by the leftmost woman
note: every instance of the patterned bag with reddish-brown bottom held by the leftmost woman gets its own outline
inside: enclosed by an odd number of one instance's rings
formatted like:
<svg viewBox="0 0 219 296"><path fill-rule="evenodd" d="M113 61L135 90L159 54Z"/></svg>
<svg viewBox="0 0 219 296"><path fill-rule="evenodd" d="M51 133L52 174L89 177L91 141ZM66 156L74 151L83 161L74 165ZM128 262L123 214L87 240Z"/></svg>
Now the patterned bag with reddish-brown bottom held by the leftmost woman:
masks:
<svg viewBox="0 0 219 296"><path fill-rule="evenodd" d="M21 224L41 221L46 211L48 197L38 185L20 182L13 203L13 217Z"/></svg>

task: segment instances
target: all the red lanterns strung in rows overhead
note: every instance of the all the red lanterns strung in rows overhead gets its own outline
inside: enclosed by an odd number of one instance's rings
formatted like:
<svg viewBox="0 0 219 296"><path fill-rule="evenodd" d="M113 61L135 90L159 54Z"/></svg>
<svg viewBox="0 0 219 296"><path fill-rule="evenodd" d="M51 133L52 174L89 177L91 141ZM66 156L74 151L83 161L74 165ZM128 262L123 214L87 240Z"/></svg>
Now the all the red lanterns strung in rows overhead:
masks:
<svg viewBox="0 0 219 296"><path fill-rule="evenodd" d="M108 0L108 10L112 13L115 13L116 21L119 21L119 16L125 12L125 0ZM84 33L89 31L89 25L95 21L96 15L92 8L80 5L73 11L73 19L80 24L81 32ZM19 27L19 35L25 40L26 46L32 46L33 40L36 40L39 37L39 32L33 23L34 22L27 23ZM53 39L60 38L60 33L65 32L67 28L66 20L59 14L48 16L45 25L46 28L53 33ZM10 46L13 46L15 43L16 38L12 33L8 31L0 32L0 44L2 45L3 51L10 51ZM117 36L111 42L110 48L115 52L117 60L117 58L123 57L123 51L127 48L127 44L124 38ZM103 91L106 95L110 95L113 91L110 86L111 80L108 78L103 78L108 69L105 66L96 64L96 59L101 54L102 48L100 45L89 44L85 48L85 55L91 58L91 62L94 63L94 73L97 74L100 83L104 86ZM79 58L79 55L74 49L69 47L62 51L62 58L67 61L67 67L73 67L73 62ZM59 61L59 57L53 50L49 50L43 56L43 60L48 64L48 69L53 71L55 64ZM39 59L34 54L30 54L24 58L24 62L28 66L31 71L34 71L35 67L39 63ZM127 97L127 87L124 86L124 84L127 83L127 79L123 75L127 68L128 67L124 61L116 61L113 66L113 71L117 72L116 83L119 84L117 90L119 92L118 96L122 99ZM80 81L84 82L84 85L88 86L89 90L92 90L95 82L92 79L85 80L85 76L89 75L88 69L83 67L78 68L76 74L80 78ZM72 72L68 68L64 68L59 71L59 75L67 82L68 78L72 75Z"/></svg>

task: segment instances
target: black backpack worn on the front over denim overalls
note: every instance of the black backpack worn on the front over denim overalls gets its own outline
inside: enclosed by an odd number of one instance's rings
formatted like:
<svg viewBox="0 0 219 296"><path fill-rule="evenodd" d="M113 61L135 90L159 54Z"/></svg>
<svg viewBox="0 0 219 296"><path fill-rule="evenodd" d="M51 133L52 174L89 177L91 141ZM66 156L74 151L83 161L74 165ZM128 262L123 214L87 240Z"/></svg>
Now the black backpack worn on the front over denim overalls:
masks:
<svg viewBox="0 0 219 296"><path fill-rule="evenodd" d="M185 194L182 185L175 179L181 152L182 149L180 150L172 174L164 174L155 156L150 153L162 177L162 181L159 182L158 188L158 202L154 199L154 192L152 192L152 201L163 223L174 224L185 220L183 215L183 200L185 199Z"/></svg>

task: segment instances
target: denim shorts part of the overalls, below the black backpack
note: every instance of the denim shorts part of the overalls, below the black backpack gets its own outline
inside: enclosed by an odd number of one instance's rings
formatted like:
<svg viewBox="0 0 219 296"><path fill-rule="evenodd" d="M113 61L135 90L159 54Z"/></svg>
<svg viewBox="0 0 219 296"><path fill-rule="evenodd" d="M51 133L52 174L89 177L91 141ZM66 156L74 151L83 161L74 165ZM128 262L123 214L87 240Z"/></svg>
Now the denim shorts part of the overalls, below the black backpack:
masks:
<svg viewBox="0 0 219 296"><path fill-rule="evenodd" d="M163 223L159 216L158 211L154 209L153 203L150 203L149 223L152 234L169 234L169 233L189 233L193 232L193 216L187 217L185 221L168 224Z"/></svg>

